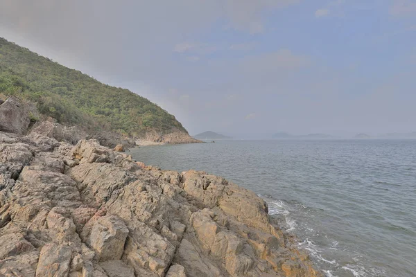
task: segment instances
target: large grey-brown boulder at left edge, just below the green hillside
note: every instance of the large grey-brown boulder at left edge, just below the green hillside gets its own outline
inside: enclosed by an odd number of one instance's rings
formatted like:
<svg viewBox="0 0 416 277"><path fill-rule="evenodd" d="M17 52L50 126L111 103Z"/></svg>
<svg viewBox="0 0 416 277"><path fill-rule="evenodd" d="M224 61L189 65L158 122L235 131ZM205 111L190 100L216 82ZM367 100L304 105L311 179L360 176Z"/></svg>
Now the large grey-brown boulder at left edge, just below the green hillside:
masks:
<svg viewBox="0 0 416 277"><path fill-rule="evenodd" d="M0 131L24 134L31 123L28 107L15 97L0 104Z"/></svg>

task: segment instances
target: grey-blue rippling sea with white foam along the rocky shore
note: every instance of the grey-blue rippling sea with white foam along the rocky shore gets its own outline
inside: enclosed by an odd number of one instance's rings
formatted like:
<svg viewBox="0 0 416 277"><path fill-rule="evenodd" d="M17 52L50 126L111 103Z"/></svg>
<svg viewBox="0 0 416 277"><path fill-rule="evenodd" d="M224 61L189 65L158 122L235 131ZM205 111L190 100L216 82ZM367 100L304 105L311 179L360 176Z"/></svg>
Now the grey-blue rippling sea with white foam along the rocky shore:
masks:
<svg viewBox="0 0 416 277"><path fill-rule="evenodd" d="M253 190L327 276L416 276L416 140L216 141L131 154Z"/></svg>

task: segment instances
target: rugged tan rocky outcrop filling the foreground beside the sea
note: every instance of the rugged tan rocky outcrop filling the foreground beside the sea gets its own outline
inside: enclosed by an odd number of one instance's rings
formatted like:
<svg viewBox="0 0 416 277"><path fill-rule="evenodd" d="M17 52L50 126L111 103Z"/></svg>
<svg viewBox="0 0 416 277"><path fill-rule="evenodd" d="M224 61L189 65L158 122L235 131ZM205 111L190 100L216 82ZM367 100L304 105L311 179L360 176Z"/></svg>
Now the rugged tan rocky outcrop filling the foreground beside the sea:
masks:
<svg viewBox="0 0 416 277"><path fill-rule="evenodd" d="M0 132L0 276L322 276L263 199L206 172Z"/></svg>

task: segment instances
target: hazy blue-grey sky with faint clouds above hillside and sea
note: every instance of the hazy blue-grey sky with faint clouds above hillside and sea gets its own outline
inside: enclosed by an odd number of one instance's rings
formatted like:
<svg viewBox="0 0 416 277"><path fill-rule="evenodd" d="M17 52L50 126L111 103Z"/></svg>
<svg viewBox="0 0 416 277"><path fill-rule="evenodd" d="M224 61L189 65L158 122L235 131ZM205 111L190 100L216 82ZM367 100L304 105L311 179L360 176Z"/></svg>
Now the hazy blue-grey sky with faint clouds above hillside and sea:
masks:
<svg viewBox="0 0 416 277"><path fill-rule="evenodd" d="M190 134L416 131L416 0L0 0L0 37Z"/></svg>

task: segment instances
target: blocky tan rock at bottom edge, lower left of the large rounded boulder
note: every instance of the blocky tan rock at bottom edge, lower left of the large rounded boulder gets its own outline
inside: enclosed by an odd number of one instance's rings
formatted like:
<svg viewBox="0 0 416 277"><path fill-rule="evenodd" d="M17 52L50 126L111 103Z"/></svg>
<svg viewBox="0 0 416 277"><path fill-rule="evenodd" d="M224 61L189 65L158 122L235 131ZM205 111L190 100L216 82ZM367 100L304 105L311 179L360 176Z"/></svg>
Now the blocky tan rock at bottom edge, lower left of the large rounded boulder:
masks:
<svg viewBox="0 0 416 277"><path fill-rule="evenodd" d="M42 247L36 269L36 277L68 276L71 247L62 244L46 244Z"/></svg>

